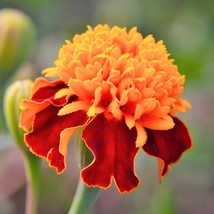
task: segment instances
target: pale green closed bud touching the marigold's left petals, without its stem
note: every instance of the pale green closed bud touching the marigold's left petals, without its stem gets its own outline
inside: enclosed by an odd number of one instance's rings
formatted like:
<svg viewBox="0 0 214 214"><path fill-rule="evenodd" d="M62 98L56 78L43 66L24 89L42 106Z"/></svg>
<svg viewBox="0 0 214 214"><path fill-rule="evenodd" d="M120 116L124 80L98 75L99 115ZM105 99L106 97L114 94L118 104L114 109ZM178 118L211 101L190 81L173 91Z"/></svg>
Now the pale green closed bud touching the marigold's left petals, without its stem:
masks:
<svg viewBox="0 0 214 214"><path fill-rule="evenodd" d="M24 143L24 131L19 127L21 113L19 103L23 98L30 97L31 87L31 80L16 81L6 89L4 95L4 115L7 127L17 146L24 152L28 149Z"/></svg>

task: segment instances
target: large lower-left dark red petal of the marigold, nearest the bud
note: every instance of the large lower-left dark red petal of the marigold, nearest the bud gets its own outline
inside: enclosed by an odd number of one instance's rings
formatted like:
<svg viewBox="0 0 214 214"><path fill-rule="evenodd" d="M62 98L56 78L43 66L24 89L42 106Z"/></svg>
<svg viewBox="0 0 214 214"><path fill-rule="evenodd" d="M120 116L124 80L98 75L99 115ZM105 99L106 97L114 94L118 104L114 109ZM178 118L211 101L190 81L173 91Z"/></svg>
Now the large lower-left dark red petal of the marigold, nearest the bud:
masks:
<svg viewBox="0 0 214 214"><path fill-rule="evenodd" d="M46 158L60 173L65 169L64 156L59 152L60 133L66 128L83 126L88 117L84 111L57 116L58 111L58 107L50 105L37 113L25 141L33 153Z"/></svg>

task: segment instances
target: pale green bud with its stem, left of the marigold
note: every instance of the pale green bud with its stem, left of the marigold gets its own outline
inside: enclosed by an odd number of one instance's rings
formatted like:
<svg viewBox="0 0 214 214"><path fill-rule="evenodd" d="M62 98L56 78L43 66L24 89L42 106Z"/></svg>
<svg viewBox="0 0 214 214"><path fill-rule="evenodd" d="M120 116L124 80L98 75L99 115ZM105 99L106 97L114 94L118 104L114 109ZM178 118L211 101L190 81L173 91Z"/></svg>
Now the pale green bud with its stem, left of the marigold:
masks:
<svg viewBox="0 0 214 214"><path fill-rule="evenodd" d="M40 186L41 164L40 159L33 155L24 143L24 131L19 128L21 110L19 103L24 98L29 98L32 81L16 81L10 85L4 95L4 115L7 127L21 150L26 168L26 210L25 214L36 214L38 208L38 196Z"/></svg>

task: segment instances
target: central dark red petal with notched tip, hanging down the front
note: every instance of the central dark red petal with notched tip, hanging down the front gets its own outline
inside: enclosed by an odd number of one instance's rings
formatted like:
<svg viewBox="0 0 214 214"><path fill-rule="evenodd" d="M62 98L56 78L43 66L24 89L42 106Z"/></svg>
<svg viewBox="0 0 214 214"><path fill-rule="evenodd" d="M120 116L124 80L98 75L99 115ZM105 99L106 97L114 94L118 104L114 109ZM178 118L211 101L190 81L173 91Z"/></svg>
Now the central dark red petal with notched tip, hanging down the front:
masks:
<svg viewBox="0 0 214 214"><path fill-rule="evenodd" d="M121 121L97 115L84 129L82 138L94 155L93 162L81 172L88 186L104 189L115 179L121 193L129 192L139 185L134 172L136 130Z"/></svg>

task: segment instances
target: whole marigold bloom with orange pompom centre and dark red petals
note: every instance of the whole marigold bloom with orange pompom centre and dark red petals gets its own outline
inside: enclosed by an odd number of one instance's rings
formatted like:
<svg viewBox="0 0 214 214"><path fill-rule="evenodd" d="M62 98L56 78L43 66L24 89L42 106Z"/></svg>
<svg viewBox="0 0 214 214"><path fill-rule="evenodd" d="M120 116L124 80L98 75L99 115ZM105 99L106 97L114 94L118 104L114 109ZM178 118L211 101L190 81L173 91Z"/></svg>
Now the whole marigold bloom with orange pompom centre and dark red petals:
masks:
<svg viewBox="0 0 214 214"><path fill-rule="evenodd" d="M94 160L82 169L88 186L121 193L135 189L134 160L142 148L159 164L159 179L191 147L186 126L175 117L191 105L180 98L184 75L169 59L162 41L136 28L98 25L66 41L54 68L35 81L32 97L21 103L20 125L30 150L61 173L69 139L82 139Z"/></svg>

